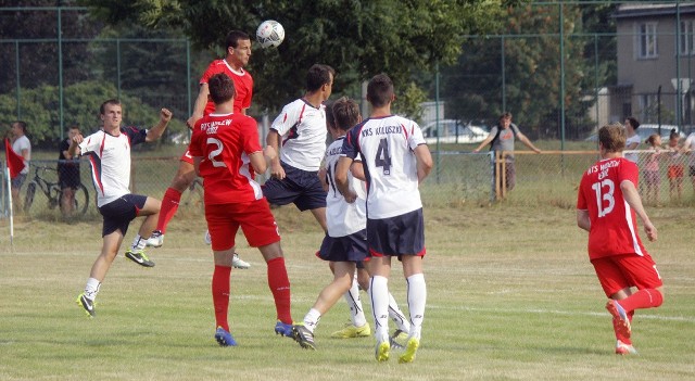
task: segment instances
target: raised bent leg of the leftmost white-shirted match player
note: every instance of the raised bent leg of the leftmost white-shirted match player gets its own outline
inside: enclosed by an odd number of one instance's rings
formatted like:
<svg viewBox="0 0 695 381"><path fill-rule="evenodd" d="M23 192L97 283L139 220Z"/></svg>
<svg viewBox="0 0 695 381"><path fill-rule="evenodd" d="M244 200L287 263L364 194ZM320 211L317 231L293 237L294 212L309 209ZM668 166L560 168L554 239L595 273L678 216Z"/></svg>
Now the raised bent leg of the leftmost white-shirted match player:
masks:
<svg viewBox="0 0 695 381"><path fill-rule="evenodd" d="M153 267L154 263L150 261L144 253L144 247L147 245L148 237L152 234L152 230L154 230L154 226L156 225L162 203L160 200L140 194L126 194L124 199L130 203L135 211L135 216L132 218L136 216L144 216L144 220L142 221L142 225L140 225L138 233L132 239L130 249L126 251L126 257L140 266Z"/></svg>

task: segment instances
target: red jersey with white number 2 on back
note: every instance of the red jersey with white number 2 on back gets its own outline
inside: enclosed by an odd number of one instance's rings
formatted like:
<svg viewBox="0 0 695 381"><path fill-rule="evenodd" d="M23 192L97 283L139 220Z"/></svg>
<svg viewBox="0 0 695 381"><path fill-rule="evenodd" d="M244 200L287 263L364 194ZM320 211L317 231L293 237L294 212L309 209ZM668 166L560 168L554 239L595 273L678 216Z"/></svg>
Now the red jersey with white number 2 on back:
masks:
<svg viewBox="0 0 695 381"><path fill-rule="evenodd" d="M254 118L237 113L204 116L195 123L189 149L192 156L202 157L206 205L263 199L249 160L262 151Z"/></svg>

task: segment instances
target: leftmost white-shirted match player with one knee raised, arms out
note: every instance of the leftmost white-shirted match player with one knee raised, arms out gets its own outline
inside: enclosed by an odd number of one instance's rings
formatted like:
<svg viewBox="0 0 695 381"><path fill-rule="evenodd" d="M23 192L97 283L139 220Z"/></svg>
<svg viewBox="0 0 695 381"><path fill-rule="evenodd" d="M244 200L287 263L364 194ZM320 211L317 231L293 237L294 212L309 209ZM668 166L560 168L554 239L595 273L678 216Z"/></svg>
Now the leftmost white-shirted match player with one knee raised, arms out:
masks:
<svg viewBox="0 0 695 381"><path fill-rule="evenodd" d="M97 190L97 206L103 216L101 253L91 267L85 292L77 296L77 304L89 317L96 316L94 299L118 254L128 225L136 217L146 218L125 255L140 266L154 266L144 254L144 245L156 225L161 202L147 195L130 193L130 148L159 139L172 119L172 112L162 109L160 122L149 130L121 127L123 107L118 100L111 99L102 103L100 118L103 123L101 130L87 138L77 134L67 150L71 157L75 156L78 148L80 155L89 156Z"/></svg>

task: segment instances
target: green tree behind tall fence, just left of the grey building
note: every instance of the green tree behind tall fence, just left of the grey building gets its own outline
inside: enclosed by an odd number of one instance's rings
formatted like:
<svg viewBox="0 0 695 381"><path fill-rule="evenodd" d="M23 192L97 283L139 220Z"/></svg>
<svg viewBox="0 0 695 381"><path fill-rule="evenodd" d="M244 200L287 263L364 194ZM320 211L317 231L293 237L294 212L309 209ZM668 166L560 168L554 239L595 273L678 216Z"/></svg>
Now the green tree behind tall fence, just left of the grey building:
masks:
<svg viewBox="0 0 695 381"><path fill-rule="evenodd" d="M510 9L498 23L498 37L467 41L457 64L442 71L448 117L494 123L503 111L510 111L532 136L558 137L563 77L558 10L558 5L532 4ZM572 116L566 119L568 130L578 135L590 128L583 96L594 88L594 60L585 60L584 51L586 45L593 47L593 40L568 37L584 30L582 13L571 4L565 4L563 10L565 112ZM502 110L503 69L507 110ZM606 73L599 73L601 84L605 84Z"/></svg>

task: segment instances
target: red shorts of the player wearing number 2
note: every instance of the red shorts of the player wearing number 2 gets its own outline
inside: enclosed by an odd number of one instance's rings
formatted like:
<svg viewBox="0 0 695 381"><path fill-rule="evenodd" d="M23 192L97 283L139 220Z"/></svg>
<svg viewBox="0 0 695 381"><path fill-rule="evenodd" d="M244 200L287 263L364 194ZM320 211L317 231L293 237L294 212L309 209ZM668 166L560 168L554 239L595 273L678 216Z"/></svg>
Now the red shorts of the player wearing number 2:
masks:
<svg viewBox="0 0 695 381"><path fill-rule="evenodd" d="M216 252L235 246L239 227L252 247L280 241L278 226L265 198L247 203L205 204L205 219Z"/></svg>

